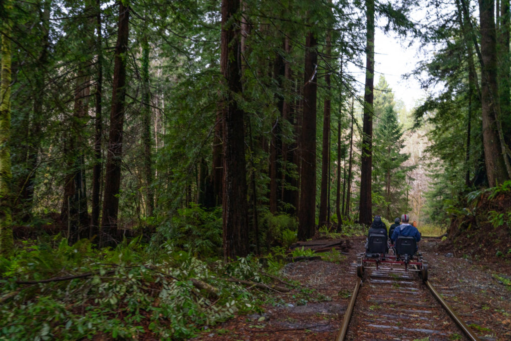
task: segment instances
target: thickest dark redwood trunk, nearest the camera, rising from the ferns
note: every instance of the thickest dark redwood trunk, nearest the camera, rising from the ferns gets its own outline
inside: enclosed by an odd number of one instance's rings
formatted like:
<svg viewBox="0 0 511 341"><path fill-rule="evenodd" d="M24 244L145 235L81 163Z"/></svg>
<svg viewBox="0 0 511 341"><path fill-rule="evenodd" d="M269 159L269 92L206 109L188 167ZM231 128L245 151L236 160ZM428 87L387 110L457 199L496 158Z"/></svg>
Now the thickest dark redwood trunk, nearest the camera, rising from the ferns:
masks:
<svg viewBox="0 0 511 341"><path fill-rule="evenodd" d="M233 16L240 0L222 0L220 64L228 93L223 107L223 249L224 259L248 254L247 185L243 110L235 100L241 95L241 41L239 20Z"/></svg>

